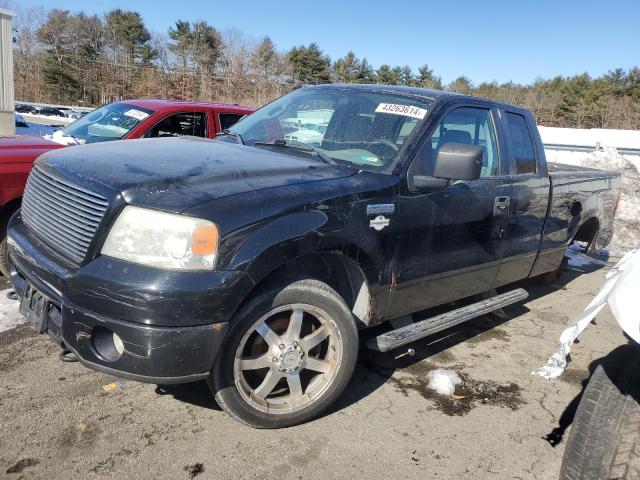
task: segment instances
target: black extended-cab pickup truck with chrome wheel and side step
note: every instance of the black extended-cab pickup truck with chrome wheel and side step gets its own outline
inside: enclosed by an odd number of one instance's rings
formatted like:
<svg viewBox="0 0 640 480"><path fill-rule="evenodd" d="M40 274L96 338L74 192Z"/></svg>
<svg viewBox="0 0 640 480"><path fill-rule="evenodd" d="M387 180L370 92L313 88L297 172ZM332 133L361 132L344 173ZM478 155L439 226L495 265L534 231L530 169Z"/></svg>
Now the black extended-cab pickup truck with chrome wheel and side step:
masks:
<svg viewBox="0 0 640 480"><path fill-rule="evenodd" d="M11 280L23 315L89 368L207 379L234 418L283 427L341 394L365 327L553 275L573 240L604 247L620 184L548 166L513 105L306 87L216 141L41 156L8 229ZM406 345L524 296L367 345Z"/></svg>

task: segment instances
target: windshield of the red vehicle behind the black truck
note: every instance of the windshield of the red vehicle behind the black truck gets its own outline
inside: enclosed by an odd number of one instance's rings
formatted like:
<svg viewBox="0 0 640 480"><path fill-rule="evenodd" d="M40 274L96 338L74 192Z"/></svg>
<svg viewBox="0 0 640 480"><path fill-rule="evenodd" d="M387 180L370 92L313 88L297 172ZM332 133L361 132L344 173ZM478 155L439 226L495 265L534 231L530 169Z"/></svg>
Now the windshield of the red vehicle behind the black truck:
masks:
<svg viewBox="0 0 640 480"><path fill-rule="evenodd" d="M128 103L110 103L79 118L62 132L79 143L119 140L152 113L153 110Z"/></svg>

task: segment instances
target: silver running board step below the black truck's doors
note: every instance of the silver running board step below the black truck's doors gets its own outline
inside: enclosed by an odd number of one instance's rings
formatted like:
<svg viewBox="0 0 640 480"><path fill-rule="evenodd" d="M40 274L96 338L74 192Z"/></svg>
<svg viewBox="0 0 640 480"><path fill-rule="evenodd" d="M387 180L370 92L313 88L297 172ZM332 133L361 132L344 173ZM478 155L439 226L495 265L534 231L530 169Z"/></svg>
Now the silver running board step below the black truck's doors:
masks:
<svg viewBox="0 0 640 480"><path fill-rule="evenodd" d="M397 328L396 330L370 338L367 340L367 347L379 352L388 352L389 350L428 337L433 333L446 330L449 327L466 322L472 318L480 317L499 308L520 302L528 296L529 293L525 289L517 288L510 292L496 295L495 297L480 300L466 307L457 308L450 312L442 313L435 317L427 318L426 320L421 320L406 327Z"/></svg>

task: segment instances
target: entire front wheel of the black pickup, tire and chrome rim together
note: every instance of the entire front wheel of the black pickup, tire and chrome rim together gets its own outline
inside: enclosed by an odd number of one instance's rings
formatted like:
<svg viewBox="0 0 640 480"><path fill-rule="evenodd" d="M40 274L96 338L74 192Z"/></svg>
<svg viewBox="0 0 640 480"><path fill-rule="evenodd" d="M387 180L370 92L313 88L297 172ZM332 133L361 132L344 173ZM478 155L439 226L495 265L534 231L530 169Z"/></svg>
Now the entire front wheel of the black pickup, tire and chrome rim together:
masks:
<svg viewBox="0 0 640 480"><path fill-rule="evenodd" d="M236 420L290 427L317 417L340 396L357 358L356 324L340 295L317 280L284 282L254 295L234 315L209 385Z"/></svg>

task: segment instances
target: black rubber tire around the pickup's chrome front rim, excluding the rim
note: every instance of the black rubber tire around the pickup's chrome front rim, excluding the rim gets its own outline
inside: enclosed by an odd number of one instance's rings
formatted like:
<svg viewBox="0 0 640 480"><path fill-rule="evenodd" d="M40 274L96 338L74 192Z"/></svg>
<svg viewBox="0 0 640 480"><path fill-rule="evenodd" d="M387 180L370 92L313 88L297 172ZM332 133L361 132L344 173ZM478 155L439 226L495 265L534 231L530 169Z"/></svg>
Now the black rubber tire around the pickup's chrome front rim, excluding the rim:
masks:
<svg viewBox="0 0 640 480"><path fill-rule="evenodd" d="M251 407L238 392L233 381L235 352L258 318L273 308L292 303L313 305L334 320L343 342L342 361L334 381L313 405L298 412L269 414ZM257 428L283 428L311 420L328 408L351 379L357 358L358 332L344 300L320 281L298 280L262 291L239 309L218 353L209 384L220 406L235 419Z"/></svg>

